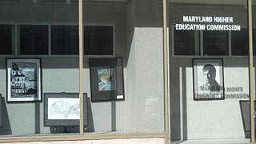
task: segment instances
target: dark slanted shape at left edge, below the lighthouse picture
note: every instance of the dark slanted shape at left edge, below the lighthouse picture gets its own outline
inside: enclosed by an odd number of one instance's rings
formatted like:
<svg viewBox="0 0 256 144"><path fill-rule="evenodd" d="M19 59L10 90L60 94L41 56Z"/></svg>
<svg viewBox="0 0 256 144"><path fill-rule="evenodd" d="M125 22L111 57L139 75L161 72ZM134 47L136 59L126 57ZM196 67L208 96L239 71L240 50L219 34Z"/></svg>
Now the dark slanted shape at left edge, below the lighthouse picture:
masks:
<svg viewBox="0 0 256 144"><path fill-rule="evenodd" d="M0 114L2 114L2 120L0 120L0 134L12 134L11 132L11 127L10 127L10 120L9 120L9 116L7 113L7 109L6 109L6 101L5 98L2 98L2 94L0 94L0 98L1 98L1 107L0 107Z"/></svg>

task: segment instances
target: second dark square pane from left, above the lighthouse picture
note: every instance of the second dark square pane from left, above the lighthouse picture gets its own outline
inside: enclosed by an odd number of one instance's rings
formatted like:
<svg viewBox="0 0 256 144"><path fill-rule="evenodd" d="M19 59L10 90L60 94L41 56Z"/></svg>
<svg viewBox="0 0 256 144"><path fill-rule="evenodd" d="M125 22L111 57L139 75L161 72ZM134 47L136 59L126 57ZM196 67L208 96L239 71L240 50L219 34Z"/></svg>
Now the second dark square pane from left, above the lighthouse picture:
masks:
<svg viewBox="0 0 256 144"><path fill-rule="evenodd" d="M48 54L48 26L19 26L20 54Z"/></svg>

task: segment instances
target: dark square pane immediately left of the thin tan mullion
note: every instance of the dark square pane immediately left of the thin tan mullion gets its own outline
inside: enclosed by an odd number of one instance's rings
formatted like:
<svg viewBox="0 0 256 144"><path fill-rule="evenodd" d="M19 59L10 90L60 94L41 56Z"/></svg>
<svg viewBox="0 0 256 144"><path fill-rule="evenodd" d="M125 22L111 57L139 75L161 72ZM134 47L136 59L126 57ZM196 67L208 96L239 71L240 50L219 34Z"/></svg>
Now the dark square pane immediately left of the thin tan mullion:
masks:
<svg viewBox="0 0 256 144"><path fill-rule="evenodd" d="M51 54L78 53L78 26L51 26Z"/></svg>

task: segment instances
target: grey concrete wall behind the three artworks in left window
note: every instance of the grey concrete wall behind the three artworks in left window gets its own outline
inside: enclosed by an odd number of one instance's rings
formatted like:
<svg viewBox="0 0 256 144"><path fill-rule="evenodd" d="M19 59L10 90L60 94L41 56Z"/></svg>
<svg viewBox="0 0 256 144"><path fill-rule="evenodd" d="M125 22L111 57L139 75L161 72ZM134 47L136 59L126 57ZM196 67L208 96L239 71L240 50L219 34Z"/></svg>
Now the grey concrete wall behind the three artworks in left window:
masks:
<svg viewBox="0 0 256 144"><path fill-rule="evenodd" d="M84 6L86 24L114 26L114 52L116 57L123 58L125 77L125 101L90 103L89 125L93 131L163 131L162 21L159 21L162 8L158 0L146 5L145 2ZM1 4L0 10L0 23L78 24L76 4L34 4L21 0L19 4ZM0 58L0 93L5 100L0 134L50 133L50 128L43 126L43 102L6 103L5 59ZM83 73L83 89L90 98L88 58L84 59ZM78 90L78 56L42 57L42 93Z"/></svg>

